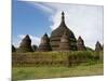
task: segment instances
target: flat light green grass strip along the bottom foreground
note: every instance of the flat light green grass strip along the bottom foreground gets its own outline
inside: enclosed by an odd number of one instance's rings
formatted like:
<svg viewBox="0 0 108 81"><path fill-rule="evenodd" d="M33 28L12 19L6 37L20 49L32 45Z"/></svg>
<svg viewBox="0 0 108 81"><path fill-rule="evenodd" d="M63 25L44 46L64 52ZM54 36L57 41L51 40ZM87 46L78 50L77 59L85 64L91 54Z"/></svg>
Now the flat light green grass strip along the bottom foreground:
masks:
<svg viewBox="0 0 108 81"><path fill-rule="evenodd" d="M81 76L102 76L104 75L104 65L79 65L73 67L13 67L12 79L29 80L42 78L64 78L64 77L81 77Z"/></svg>

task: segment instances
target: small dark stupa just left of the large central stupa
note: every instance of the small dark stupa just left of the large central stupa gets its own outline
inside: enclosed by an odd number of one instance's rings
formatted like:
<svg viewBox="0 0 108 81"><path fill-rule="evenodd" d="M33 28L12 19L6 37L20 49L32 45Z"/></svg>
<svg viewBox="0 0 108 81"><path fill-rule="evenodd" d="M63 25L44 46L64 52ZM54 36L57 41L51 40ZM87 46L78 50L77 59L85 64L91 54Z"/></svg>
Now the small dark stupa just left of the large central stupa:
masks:
<svg viewBox="0 0 108 81"><path fill-rule="evenodd" d="M41 51L41 52L51 51L50 39L46 33L41 38L41 43L39 45L38 51Z"/></svg>

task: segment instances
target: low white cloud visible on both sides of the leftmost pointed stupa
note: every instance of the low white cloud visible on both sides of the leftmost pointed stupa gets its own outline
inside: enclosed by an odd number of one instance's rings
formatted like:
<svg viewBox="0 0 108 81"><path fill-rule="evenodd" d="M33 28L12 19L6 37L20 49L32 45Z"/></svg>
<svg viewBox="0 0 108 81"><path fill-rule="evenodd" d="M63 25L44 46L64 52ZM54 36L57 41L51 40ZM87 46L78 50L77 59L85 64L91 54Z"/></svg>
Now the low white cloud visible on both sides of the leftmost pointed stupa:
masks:
<svg viewBox="0 0 108 81"><path fill-rule="evenodd" d="M18 35L18 36L17 36L17 41L14 42L13 44L14 44L16 48L18 48L19 44L21 44L21 42L22 42L22 40L25 38L25 36L26 36L26 35ZM29 35L29 37L30 37L30 39L31 39L31 45L32 45L32 44L36 44L36 45L39 45L39 44L40 44L40 39L41 39L41 38L31 36L31 35Z"/></svg>

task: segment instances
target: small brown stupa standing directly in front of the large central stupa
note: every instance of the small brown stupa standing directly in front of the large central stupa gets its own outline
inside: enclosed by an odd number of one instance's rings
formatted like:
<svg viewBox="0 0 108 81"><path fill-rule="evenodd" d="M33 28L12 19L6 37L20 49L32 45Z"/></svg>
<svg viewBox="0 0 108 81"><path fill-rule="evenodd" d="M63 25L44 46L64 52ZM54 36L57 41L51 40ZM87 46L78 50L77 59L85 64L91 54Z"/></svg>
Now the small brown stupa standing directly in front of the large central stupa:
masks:
<svg viewBox="0 0 108 81"><path fill-rule="evenodd" d="M63 37L60 38L58 51L70 51L70 50L71 50L70 38L69 38L67 30L66 30L64 32Z"/></svg>

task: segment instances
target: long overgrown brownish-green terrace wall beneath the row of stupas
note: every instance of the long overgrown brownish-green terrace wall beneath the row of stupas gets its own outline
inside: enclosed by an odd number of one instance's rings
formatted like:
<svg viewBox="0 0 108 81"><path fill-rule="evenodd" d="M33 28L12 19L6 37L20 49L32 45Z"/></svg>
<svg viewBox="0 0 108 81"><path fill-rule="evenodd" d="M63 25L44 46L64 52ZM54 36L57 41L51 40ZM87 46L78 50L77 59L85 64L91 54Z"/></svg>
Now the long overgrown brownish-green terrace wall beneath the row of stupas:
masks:
<svg viewBox="0 0 108 81"><path fill-rule="evenodd" d="M12 64L13 66L71 66L71 64L99 60L103 58L102 55L103 52L92 51L13 53Z"/></svg>

